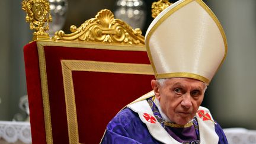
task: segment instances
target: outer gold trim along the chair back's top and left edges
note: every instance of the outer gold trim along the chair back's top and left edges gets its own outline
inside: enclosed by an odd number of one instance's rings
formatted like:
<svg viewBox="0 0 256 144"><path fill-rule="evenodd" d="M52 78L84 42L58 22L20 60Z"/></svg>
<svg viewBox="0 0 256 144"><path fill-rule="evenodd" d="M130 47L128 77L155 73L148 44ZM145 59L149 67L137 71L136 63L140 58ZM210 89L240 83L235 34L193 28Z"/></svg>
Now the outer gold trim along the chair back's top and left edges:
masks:
<svg viewBox="0 0 256 144"><path fill-rule="evenodd" d="M124 50L124 51L141 51L146 52L144 45L127 45L127 44L100 44L100 43L79 43L78 41L53 41L40 39L36 41L37 50L39 54L39 68L40 68L40 78L41 78L41 92L43 97L43 108L44 108L44 124L46 131L46 143L53 143L52 134L52 121L50 116L50 101L49 101L49 91L47 84L47 73L46 73L46 59L44 56L44 46L62 46L62 47L76 47L83 49L102 49L102 50ZM143 64L142 64L143 65ZM149 65L151 66L151 65ZM82 70L81 70L82 71ZM153 75L153 70L151 67L149 72ZM151 75L149 74L149 75ZM72 86L73 87L73 86ZM76 131L74 131L76 132ZM76 142L78 143L78 142Z"/></svg>

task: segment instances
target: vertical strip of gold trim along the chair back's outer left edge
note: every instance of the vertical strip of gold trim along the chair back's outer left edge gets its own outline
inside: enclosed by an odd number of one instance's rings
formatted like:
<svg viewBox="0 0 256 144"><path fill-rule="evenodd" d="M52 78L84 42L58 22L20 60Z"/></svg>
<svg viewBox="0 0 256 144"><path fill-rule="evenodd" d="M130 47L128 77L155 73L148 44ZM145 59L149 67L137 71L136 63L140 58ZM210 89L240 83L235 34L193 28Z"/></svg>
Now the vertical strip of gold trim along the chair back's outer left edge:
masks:
<svg viewBox="0 0 256 144"><path fill-rule="evenodd" d="M52 122L50 116L50 101L49 101L49 91L47 84L47 73L46 73L46 60L44 56L44 47L42 44L37 42L37 50L39 54L39 68L41 77L41 92L43 97L43 111L44 111L44 125L46 130L46 143L53 143L52 136Z"/></svg>

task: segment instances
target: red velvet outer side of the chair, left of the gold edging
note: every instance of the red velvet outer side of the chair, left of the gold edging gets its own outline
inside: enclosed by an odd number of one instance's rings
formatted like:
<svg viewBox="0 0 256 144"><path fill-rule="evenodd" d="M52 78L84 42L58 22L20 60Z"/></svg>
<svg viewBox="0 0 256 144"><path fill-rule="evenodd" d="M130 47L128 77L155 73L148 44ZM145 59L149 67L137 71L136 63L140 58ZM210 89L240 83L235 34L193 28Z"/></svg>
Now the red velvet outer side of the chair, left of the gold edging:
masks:
<svg viewBox="0 0 256 144"><path fill-rule="evenodd" d="M33 143L46 143L43 100L36 42L24 46L25 73L27 78L28 104Z"/></svg>

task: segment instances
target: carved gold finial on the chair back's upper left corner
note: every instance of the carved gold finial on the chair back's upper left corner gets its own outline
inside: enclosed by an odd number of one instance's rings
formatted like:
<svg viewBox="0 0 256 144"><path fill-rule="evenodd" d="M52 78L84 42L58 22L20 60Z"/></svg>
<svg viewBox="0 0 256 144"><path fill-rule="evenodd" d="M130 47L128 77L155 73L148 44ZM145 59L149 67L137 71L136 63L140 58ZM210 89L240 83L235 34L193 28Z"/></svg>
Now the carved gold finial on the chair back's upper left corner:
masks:
<svg viewBox="0 0 256 144"><path fill-rule="evenodd" d="M49 30L48 23L52 21L49 1L23 0L22 9L27 12L25 19L27 23L30 23L30 29L35 30L33 40L37 38L49 39L49 33L46 33Z"/></svg>

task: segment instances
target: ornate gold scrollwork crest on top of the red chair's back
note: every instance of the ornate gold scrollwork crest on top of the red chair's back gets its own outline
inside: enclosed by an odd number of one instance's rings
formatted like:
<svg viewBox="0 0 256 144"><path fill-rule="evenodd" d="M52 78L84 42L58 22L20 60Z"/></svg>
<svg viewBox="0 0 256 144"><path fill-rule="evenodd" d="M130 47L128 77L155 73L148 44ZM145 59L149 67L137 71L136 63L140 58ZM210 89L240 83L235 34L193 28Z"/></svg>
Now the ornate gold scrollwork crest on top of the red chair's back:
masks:
<svg viewBox="0 0 256 144"><path fill-rule="evenodd" d="M114 14L103 9L80 27L72 25L71 34L65 34L64 31L57 31L53 40L68 41L97 41L103 43L129 43L145 44L144 36L139 28L132 29L128 24L114 18Z"/></svg>

